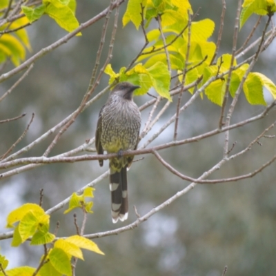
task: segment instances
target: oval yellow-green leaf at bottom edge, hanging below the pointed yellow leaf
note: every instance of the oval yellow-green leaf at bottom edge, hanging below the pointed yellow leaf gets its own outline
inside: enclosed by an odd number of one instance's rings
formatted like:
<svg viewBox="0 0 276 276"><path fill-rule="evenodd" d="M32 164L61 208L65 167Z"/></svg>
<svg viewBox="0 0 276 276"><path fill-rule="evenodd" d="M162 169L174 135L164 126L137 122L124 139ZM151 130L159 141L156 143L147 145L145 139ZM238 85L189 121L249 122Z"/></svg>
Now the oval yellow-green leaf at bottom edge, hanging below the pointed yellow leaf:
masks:
<svg viewBox="0 0 276 276"><path fill-rule="evenodd" d="M72 275L70 258L61 248L52 248L48 256L50 263L59 273Z"/></svg>

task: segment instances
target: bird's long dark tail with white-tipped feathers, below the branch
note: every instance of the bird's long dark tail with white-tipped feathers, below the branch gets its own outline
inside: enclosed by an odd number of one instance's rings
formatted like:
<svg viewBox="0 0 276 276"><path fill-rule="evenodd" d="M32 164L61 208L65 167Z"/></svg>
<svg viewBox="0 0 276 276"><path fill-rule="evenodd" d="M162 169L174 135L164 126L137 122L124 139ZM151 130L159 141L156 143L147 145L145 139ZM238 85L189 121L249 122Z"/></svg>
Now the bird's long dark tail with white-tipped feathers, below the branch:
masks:
<svg viewBox="0 0 276 276"><path fill-rule="evenodd" d="M109 164L110 191L111 191L111 214L115 224L118 219L124 221L128 218L128 181L126 168L120 171L112 168L112 161Z"/></svg>

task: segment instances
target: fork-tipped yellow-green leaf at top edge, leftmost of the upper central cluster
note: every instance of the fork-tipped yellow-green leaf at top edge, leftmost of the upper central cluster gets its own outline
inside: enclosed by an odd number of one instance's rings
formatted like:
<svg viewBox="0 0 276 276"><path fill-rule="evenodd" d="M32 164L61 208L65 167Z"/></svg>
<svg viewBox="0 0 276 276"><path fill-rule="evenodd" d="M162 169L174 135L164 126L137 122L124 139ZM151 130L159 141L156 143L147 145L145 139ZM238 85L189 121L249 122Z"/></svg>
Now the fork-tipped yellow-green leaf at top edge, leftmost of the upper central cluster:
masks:
<svg viewBox="0 0 276 276"><path fill-rule="evenodd" d="M123 26L126 26L126 24L129 21L132 21L132 23L135 25L135 27L138 30L142 21L142 17L141 17L142 2L143 2L142 0L128 0L128 6L126 8L126 12L123 17Z"/></svg>

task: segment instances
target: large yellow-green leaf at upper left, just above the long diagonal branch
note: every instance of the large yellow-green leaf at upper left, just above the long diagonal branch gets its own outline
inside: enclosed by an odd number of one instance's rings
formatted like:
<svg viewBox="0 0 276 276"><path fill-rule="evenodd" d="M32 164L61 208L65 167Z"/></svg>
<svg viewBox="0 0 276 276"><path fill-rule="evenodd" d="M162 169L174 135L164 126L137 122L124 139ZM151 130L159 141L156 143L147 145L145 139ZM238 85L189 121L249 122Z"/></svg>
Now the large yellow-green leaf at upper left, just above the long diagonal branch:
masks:
<svg viewBox="0 0 276 276"><path fill-rule="evenodd" d="M52 3L49 3L46 6L46 14L49 17L52 17L61 28L67 30L68 32L72 32L79 27L79 21L75 17L74 13L68 6L60 6L59 8ZM78 36L81 35L81 32L77 34Z"/></svg>

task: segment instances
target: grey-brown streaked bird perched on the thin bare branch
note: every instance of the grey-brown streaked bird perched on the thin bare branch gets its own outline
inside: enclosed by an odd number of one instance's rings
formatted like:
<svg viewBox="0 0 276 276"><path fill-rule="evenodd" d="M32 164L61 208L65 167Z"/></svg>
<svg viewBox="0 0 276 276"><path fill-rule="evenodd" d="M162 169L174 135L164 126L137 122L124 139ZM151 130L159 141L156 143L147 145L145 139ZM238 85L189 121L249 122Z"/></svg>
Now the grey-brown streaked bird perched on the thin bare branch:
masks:
<svg viewBox="0 0 276 276"><path fill-rule="evenodd" d="M111 214L112 221L124 221L128 218L127 168L133 156L121 156L124 150L136 150L141 127L141 114L132 99L133 91L140 86L121 82L110 92L106 104L99 112L96 130L96 148L98 154L103 150L117 153L109 160ZM103 160L99 160L103 166Z"/></svg>

